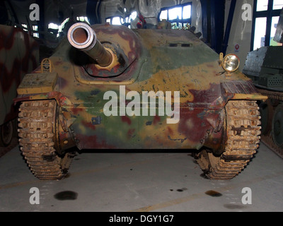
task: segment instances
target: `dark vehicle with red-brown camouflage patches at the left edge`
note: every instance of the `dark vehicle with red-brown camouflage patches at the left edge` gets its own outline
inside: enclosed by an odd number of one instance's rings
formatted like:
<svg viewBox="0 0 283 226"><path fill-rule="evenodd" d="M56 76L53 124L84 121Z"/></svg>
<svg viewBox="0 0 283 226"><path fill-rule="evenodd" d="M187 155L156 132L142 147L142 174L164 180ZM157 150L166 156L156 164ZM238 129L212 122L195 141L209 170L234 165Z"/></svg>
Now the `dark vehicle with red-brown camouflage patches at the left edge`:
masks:
<svg viewBox="0 0 283 226"><path fill-rule="evenodd" d="M23 76L38 66L39 45L21 28L0 25L0 146L16 134L18 107L13 99Z"/></svg>

